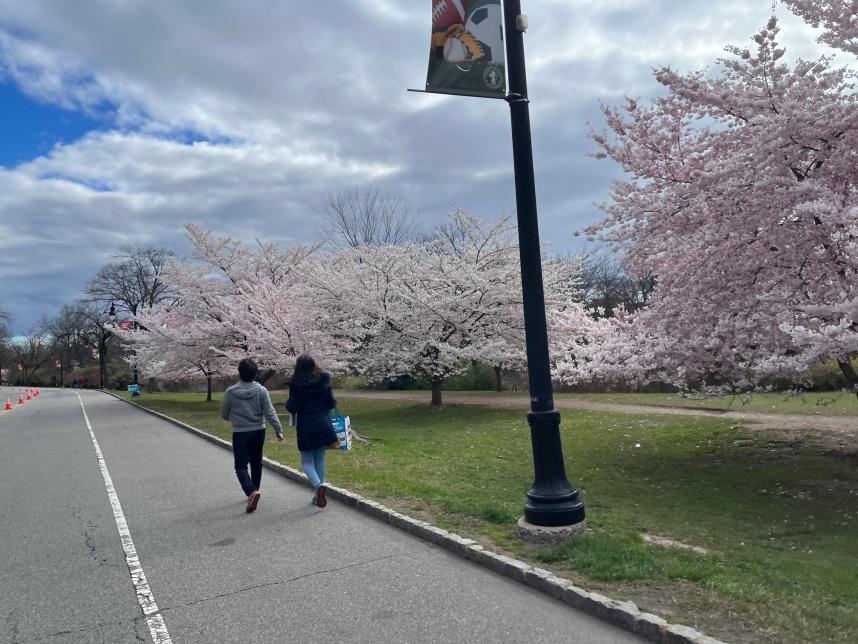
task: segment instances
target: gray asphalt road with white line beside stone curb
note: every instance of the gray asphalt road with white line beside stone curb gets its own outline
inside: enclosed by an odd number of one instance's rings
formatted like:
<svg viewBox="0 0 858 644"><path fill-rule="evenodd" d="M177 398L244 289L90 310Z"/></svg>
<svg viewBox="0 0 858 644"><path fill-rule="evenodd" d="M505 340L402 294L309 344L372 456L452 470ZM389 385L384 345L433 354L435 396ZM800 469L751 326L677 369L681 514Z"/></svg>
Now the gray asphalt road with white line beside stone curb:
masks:
<svg viewBox="0 0 858 644"><path fill-rule="evenodd" d="M79 395L0 411L0 642L640 641L268 470L248 515L226 450Z"/></svg>

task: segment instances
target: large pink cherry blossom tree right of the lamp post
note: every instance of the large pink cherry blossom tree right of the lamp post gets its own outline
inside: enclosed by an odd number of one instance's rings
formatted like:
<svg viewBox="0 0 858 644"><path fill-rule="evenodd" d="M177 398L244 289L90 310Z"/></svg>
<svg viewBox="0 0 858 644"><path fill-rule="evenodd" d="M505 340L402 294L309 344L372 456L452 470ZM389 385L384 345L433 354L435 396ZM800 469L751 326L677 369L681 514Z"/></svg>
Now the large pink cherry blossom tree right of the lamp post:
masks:
<svg viewBox="0 0 858 644"><path fill-rule="evenodd" d="M788 4L839 38L854 28L854 3L847 23L843 3ZM666 96L604 109L613 137L594 133L596 156L629 178L587 232L657 277L643 311L600 329L614 354L591 364L606 372L750 389L833 358L858 387L852 74L825 56L787 65L778 31L772 17L753 51L727 47L718 76L661 68Z"/></svg>

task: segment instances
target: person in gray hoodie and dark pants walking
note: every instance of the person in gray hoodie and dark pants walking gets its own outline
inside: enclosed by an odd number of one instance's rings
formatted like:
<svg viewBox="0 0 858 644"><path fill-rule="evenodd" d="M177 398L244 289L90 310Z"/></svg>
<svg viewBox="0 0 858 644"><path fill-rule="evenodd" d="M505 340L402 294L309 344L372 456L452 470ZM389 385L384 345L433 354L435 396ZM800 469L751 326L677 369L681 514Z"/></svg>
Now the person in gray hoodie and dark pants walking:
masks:
<svg viewBox="0 0 858 644"><path fill-rule="evenodd" d="M241 378L223 395L220 415L232 423L232 453L235 474L247 496L247 511L259 504L259 484L262 481L262 446L265 443L265 421L274 428L277 441L283 440L283 426L271 404L268 390L256 378L257 366L250 358L238 363ZM250 466L250 474L247 467Z"/></svg>

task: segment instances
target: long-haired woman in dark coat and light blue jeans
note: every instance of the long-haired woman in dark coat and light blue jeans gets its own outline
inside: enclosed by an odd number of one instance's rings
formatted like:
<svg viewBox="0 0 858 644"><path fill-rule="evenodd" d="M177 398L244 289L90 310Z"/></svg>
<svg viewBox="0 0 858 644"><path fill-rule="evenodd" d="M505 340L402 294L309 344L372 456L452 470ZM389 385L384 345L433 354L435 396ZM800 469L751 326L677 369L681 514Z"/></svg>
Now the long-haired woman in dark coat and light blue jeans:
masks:
<svg viewBox="0 0 858 644"><path fill-rule="evenodd" d="M289 381L286 409L295 414L301 467L313 485L313 503L320 508L328 504L325 498L325 453L340 445L331 424L330 410L336 406L331 376L319 369L310 356L299 356Z"/></svg>

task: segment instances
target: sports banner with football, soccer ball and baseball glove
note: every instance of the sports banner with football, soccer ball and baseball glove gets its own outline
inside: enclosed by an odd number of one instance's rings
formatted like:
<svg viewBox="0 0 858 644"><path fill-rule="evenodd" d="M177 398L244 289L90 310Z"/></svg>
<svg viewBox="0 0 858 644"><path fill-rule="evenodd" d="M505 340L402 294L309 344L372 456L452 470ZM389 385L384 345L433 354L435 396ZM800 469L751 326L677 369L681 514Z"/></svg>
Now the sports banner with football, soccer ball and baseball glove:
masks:
<svg viewBox="0 0 858 644"><path fill-rule="evenodd" d="M506 97L501 0L432 0L426 91Z"/></svg>

